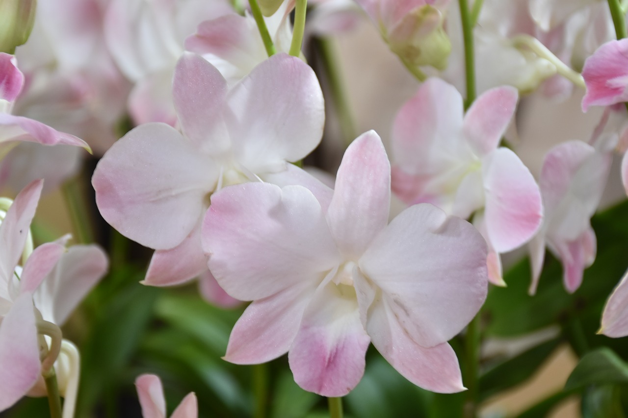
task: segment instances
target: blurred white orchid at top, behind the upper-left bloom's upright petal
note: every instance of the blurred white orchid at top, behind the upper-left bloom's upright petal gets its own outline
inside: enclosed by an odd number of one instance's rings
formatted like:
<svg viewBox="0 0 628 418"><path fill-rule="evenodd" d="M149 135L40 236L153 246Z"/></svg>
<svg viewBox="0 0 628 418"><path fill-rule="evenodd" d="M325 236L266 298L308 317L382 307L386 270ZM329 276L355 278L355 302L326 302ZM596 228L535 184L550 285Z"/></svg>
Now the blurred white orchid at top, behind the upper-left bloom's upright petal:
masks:
<svg viewBox="0 0 628 418"><path fill-rule="evenodd" d="M204 20L233 13L226 0L112 0L105 39L122 73L134 83L129 113L136 124L174 125L171 82L183 40Z"/></svg>

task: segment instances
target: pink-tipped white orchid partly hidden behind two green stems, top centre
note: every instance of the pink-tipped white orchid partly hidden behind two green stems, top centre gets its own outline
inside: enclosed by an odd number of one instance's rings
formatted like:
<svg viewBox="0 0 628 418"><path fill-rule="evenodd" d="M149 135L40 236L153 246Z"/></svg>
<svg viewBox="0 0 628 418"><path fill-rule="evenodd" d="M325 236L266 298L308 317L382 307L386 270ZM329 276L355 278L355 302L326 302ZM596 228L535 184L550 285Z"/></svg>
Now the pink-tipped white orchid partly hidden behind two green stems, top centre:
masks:
<svg viewBox="0 0 628 418"><path fill-rule="evenodd" d="M264 18L278 52L290 51L290 11L294 3L294 0L284 1L272 16ZM268 58L255 19L248 11L244 16L230 13L199 24L197 32L185 40L185 49L212 63L229 85L241 80Z"/></svg>

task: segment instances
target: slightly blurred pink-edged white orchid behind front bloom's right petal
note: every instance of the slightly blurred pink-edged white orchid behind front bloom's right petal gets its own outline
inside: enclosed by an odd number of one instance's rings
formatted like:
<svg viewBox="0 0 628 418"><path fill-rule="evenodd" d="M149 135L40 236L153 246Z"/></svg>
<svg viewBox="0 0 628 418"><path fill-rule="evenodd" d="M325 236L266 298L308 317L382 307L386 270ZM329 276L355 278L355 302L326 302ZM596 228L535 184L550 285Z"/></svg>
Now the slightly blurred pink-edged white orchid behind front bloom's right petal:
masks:
<svg viewBox="0 0 628 418"><path fill-rule="evenodd" d="M482 94L463 115L462 97L428 79L400 110L393 127L393 191L408 205L429 202L477 224L489 245L489 277L503 284L499 253L527 242L542 215L532 174L510 149L498 147L517 90Z"/></svg>

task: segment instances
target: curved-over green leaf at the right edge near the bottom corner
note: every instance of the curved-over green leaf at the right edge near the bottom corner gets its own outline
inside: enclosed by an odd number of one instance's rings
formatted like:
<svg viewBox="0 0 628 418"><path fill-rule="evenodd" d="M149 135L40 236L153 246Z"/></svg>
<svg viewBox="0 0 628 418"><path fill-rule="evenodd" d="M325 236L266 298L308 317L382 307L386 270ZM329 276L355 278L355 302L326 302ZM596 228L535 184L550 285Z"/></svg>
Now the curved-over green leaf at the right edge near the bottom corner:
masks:
<svg viewBox="0 0 628 418"><path fill-rule="evenodd" d="M565 390L605 383L628 383L628 365L610 348L598 348L578 362L565 383Z"/></svg>

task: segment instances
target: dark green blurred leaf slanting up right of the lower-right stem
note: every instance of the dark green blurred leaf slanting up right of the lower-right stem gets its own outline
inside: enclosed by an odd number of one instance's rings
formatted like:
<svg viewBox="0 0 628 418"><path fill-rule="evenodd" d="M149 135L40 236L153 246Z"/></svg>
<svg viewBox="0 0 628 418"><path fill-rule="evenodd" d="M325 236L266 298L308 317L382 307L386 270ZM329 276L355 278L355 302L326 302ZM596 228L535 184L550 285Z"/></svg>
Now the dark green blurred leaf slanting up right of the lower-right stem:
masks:
<svg viewBox="0 0 628 418"><path fill-rule="evenodd" d="M480 375L480 400L523 383L543 365L560 343L561 340L555 338L503 362L492 364Z"/></svg>

